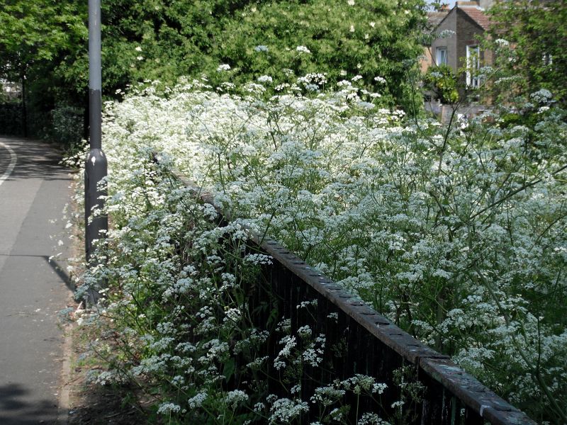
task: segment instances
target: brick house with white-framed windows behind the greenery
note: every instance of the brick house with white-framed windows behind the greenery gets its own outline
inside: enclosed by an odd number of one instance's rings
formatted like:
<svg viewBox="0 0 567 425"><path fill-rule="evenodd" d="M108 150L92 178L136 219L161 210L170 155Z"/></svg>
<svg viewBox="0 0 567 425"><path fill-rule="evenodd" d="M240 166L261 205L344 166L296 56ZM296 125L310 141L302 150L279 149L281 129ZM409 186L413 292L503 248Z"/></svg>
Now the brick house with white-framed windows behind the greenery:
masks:
<svg viewBox="0 0 567 425"><path fill-rule="evenodd" d="M485 64L493 63L493 52L482 50L478 39L483 37L490 26L485 10L494 0L457 1L450 10L430 12L428 23L434 37L430 46L425 47L422 71L434 65L447 64L459 76L459 94L476 89L481 79L475 74ZM461 72L467 67L471 72Z"/></svg>

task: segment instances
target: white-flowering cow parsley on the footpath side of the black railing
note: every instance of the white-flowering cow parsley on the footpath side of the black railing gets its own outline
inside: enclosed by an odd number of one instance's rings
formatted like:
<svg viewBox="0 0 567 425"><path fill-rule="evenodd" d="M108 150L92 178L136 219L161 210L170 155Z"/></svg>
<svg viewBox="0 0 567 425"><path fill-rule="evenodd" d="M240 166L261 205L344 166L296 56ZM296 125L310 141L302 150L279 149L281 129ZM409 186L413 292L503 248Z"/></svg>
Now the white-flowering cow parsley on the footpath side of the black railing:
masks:
<svg viewBox="0 0 567 425"><path fill-rule="evenodd" d="M386 386L355 375L303 401L298 370L321 366L325 336L308 326L294 336L286 319L272 322L272 332L254 327L250 288L271 257L251 251L243 223L223 223L171 178L165 162L157 167L147 149L131 153L109 181L115 227L99 246L104 265L91 268L81 288L108 282L98 310L79 319L96 336L91 353L108 362L91 378L136 382L155 399L153 413L169 423L299 424L310 411L321 424L351 423L345 395L377 397ZM279 314L269 312L273 320ZM274 338L281 350L266 356ZM268 392L267 363L281 373L278 395ZM384 423L362 409L354 416Z"/></svg>

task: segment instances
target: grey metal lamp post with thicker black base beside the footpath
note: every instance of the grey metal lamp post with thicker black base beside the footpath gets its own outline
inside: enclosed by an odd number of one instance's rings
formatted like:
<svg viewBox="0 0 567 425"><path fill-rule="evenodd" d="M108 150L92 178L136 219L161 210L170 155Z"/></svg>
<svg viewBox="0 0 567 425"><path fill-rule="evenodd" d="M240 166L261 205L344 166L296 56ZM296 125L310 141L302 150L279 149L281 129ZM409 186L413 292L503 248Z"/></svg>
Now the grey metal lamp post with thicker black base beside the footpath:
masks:
<svg viewBox="0 0 567 425"><path fill-rule="evenodd" d="M99 182L106 177L106 157L101 142L101 0L89 0L89 139L91 150L86 157L84 172L85 193L85 251L89 263L94 251L93 241L105 237L108 217L92 217L94 208L101 209L106 188ZM102 231L102 232L101 232ZM96 300L95 300L96 301Z"/></svg>

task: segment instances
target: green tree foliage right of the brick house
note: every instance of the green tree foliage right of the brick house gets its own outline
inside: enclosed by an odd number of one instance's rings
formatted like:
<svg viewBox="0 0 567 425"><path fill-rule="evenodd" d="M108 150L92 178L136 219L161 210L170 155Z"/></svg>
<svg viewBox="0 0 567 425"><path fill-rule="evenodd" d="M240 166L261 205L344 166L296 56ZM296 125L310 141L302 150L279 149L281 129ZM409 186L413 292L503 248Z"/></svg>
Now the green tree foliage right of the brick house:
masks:
<svg viewBox="0 0 567 425"><path fill-rule="evenodd" d="M567 104L567 2L508 0L490 9L496 51L493 90L501 101L547 89Z"/></svg>

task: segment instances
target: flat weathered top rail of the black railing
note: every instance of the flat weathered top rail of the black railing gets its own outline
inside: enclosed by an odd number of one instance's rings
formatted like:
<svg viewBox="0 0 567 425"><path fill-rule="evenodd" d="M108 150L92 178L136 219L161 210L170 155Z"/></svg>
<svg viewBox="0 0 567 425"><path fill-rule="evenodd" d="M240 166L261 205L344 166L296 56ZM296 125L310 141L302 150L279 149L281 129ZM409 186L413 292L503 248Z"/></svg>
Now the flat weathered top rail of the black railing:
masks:
<svg viewBox="0 0 567 425"><path fill-rule="evenodd" d="M176 177L186 187L192 189L203 202L213 205L220 215L227 219L230 218L215 206L213 196L210 193L203 191L202 188L179 173L176 173ZM337 309L352 317L372 336L398 353L406 361L417 365L425 374L439 382L468 408L478 412L483 419L489 421L490 424L537 425L524 412L513 407L512 404L496 395L495 392L485 387L472 375L459 368L450 360L449 356L438 353L418 341L369 305L347 293L332 279L311 267L278 242L261 238L254 232L249 232L249 236L262 251L272 256L275 261L287 268L298 279L329 300Z"/></svg>

